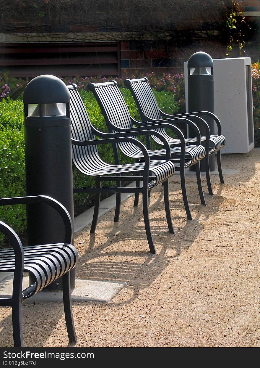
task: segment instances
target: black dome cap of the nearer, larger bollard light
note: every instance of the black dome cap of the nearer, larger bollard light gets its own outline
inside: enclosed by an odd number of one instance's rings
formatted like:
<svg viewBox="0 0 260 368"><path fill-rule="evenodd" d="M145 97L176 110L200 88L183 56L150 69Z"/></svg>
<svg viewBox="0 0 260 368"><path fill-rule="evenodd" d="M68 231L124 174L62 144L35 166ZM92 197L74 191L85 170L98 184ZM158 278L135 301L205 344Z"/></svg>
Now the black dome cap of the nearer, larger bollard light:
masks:
<svg viewBox="0 0 260 368"><path fill-rule="evenodd" d="M54 75L33 78L24 90L24 103L67 103L69 91L65 83Z"/></svg>

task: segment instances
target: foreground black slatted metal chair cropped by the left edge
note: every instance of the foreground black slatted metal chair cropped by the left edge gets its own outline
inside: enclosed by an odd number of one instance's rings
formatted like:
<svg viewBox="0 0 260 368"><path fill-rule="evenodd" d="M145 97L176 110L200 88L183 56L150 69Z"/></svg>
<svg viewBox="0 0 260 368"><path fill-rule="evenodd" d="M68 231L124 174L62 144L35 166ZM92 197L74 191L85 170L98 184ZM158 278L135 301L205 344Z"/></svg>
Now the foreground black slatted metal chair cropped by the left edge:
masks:
<svg viewBox="0 0 260 368"><path fill-rule="evenodd" d="M0 221L0 231L10 242L11 248L0 250L0 272L14 272L12 297L0 297L0 305L12 307L14 346L23 346L21 304L61 277L66 327L70 342L76 342L71 308L70 270L78 259L76 248L71 244L72 220L68 211L58 201L48 196L1 198L0 205L46 203L62 217L65 227L64 243L23 247L14 230ZM23 273L30 275L30 285L22 290Z"/></svg>

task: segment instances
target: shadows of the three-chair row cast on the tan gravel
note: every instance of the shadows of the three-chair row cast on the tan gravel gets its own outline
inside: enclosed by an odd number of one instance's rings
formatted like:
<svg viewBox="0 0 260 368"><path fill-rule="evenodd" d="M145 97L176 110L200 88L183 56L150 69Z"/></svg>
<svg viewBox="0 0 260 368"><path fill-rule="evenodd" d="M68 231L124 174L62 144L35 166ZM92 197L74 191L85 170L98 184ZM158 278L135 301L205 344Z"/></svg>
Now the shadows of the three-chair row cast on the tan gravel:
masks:
<svg viewBox="0 0 260 368"><path fill-rule="evenodd" d="M217 212L219 206L224 201L221 197L221 185L218 187L216 195L213 197L206 195L207 206L191 204L194 221L188 221L185 216L185 210L182 199L176 199L174 191L170 194L170 206L175 234L170 234L167 231L166 220L162 223L161 219L155 219L151 216L151 229L155 241L156 255L149 253L148 244L144 226L138 226L134 223L131 229L125 229L120 220L118 223L111 222L107 225L108 232L105 227L102 231L106 233L108 239L105 243L98 244L98 229L95 234L89 234L86 228L87 236L86 243L89 244L83 256L80 257L76 275L79 279L90 280L107 280L109 282L126 282L126 291L131 291L131 296L122 302L128 304L134 301L140 294L140 290L148 288L155 279L163 272L172 260L181 255L183 250L187 250L192 246L194 240L199 236L199 233L204 228L203 222L198 220L206 220ZM216 190L215 190L216 191ZM159 195L158 195L159 194ZM154 194L151 193L151 196ZM152 209L156 206L156 211L164 212L163 194L156 193L158 198L149 206L149 212L152 215ZM180 197L180 196L179 196ZM182 209L182 216L174 216L174 209ZM131 219L142 219L142 206L132 208ZM129 216L129 213L127 213ZM112 215L111 215L112 218ZM75 239L75 243L77 237ZM123 241L123 247L122 247ZM118 248L116 245L120 242ZM142 243L138 246L138 243ZM126 244L126 246L125 246ZM143 248L144 247L146 248ZM113 250L111 250L111 246ZM132 249L133 246L133 250ZM120 249L121 248L121 249ZM118 304L118 302L116 302ZM113 300L108 306L113 307ZM102 307L98 303L97 307Z"/></svg>

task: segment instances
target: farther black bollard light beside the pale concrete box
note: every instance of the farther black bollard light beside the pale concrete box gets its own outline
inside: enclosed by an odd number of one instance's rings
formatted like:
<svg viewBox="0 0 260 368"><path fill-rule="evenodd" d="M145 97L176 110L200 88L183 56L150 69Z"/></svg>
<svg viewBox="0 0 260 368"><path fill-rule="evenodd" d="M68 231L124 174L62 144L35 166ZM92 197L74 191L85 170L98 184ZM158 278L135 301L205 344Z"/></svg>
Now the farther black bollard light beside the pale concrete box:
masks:
<svg viewBox="0 0 260 368"><path fill-rule="evenodd" d="M209 111L214 113L214 75L213 60L205 52L196 52L188 60L188 112ZM214 134L214 120L207 118L210 134ZM201 136L205 129L199 126ZM189 129L189 137L194 137ZM203 142L202 142L203 143ZM189 168L195 171L195 165ZM215 170L215 155L209 157L209 169ZM201 171L205 171L205 159L201 161Z"/></svg>

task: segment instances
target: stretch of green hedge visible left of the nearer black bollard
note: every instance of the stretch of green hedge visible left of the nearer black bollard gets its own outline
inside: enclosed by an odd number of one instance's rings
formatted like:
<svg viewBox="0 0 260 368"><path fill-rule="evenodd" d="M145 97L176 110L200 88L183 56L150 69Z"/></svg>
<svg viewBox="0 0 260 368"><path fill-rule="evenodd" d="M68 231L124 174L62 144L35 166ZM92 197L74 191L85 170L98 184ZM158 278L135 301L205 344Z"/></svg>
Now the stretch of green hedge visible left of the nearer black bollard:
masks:
<svg viewBox="0 0 260 368"><path fill-rule="evenodd" d="M21 101L8 98L0 103L0 197L3 198L25 195L23 121ZM0 219L22 233L26 226L25 206L0 206Z"/></svg>

